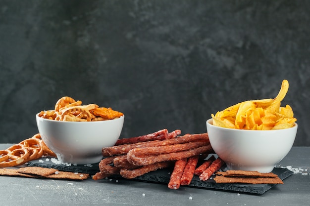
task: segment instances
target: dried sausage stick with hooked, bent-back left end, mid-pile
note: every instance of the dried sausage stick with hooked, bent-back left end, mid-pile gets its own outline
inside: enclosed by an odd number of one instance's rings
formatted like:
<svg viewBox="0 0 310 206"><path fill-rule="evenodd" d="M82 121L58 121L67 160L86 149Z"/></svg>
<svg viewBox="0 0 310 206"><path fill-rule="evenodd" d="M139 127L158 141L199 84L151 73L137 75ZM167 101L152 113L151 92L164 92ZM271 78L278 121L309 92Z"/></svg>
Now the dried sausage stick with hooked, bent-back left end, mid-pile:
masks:
<svg viewBox="0 0 310 206"><path fill-rule="evenodd" d="M144 149L144 148L137 148L137 149ZM149 148L146 148L146 151L148 151ZM210 144L182 152L171 152L167 154L159 154L159 155L151 155L147 157L138 157L135 154L135 149L130 150L127 154L127 160L132 165L151 165L158 162L165 162L165 161L174 161L174 160L180 160L183 158L189 158L192 156L196 156L202 153L211 152L212 147ZM146 153L147 154L147 153Z"/></svg>

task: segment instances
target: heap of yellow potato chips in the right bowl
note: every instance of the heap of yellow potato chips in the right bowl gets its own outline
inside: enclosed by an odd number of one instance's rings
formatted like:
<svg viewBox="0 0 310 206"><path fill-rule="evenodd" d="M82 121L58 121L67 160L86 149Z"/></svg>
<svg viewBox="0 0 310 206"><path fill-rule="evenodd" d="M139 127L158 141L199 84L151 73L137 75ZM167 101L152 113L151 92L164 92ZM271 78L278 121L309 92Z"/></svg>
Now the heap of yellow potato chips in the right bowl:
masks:
<svg viewBox="0 0 310 206"><path fill-rule="evenodd" d="M297 119L291 106L281 107L288 88L288 81L283 80L278 95L273 99L248 100L211 114L213 125L249 130L292 127Z"/></svg>

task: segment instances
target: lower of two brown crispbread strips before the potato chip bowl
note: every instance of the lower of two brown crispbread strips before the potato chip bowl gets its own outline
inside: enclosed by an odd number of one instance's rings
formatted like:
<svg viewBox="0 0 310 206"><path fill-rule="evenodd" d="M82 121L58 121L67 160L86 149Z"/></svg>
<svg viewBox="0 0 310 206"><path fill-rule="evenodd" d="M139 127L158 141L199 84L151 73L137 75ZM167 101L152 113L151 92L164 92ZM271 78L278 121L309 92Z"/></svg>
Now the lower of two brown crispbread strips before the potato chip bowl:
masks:
<svg viewBox="0 0 310 206"><path fill-rule="evenodd" d="M283 184L279 177L225 177L213 178L216 183Z"/></svg>

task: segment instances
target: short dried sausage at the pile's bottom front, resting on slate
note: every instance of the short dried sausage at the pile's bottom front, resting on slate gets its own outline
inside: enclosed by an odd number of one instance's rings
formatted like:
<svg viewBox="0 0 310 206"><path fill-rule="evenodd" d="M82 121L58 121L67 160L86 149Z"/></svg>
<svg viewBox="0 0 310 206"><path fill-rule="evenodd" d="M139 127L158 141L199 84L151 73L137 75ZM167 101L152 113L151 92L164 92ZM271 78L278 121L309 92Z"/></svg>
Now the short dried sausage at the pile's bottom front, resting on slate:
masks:
<svg viewBox="0 0 310 206"><path fill-rule="evenodd" d="M120 169L119 173L122 177L127 179L132 179L143 174L146 174L150 171L155 171L157 169L165 168L171 165L171 162L162 162L162 163L155 163L152 165L145 165L136 169L129 170L127 168Z"/></svg>

